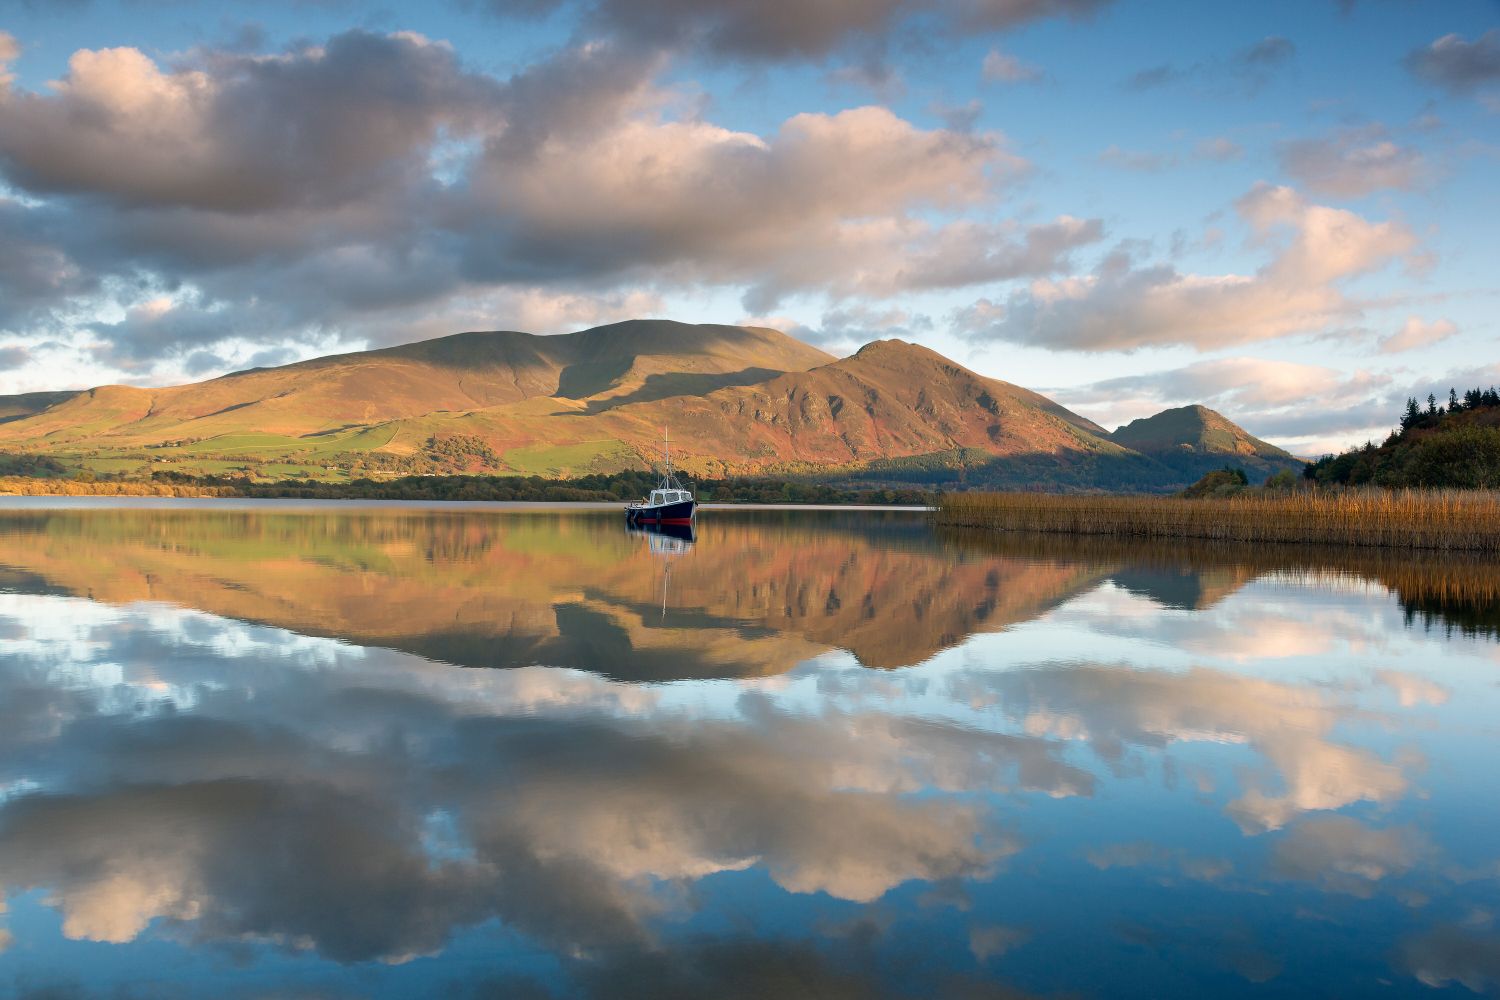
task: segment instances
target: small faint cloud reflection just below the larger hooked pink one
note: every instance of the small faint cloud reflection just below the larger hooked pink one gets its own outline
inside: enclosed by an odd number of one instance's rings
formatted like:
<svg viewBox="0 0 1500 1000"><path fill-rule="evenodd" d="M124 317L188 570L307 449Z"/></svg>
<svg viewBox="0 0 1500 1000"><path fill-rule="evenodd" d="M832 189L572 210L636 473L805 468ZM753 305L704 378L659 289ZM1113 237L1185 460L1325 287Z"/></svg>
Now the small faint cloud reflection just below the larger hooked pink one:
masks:
<svg viewBox="0 0 1500 1000"><path fill-rule="evenodd" d="M1287 879L1366 897L1372 883L1410 871L1430 852L1426 838L1410 828L1371 829L1348 816L1318 816L1276 841L1270 865Z"/></svg>

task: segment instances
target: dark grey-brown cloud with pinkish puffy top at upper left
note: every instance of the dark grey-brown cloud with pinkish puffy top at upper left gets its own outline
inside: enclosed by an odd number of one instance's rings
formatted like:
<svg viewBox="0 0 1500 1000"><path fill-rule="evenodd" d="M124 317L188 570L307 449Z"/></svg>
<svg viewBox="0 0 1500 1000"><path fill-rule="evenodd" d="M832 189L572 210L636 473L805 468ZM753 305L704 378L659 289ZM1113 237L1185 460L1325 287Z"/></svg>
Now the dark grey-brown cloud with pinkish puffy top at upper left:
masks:
<svg viewBox="0 0 1500 1000"><path fill-rule="evenodd" d="M174 70L134 48L80 49L52 93L0 96L0 163L26 190L124 207L334 208L411 184L438 129L476 126L498 97L412 34Z"/></svg>

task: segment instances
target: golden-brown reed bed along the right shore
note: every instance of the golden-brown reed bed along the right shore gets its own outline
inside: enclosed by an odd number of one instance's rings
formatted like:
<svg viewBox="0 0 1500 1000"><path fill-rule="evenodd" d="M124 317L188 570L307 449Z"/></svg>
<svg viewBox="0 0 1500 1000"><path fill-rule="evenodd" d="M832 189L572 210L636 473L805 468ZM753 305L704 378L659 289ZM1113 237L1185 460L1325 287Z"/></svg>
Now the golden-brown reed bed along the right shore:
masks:
<svg viewBox="0 0 1500 1000"><path fill-rule="evenodd" d="M1300 490L1230 498L948 493L938 523L1118 538L1500 552L1500 492Z"/></svg>

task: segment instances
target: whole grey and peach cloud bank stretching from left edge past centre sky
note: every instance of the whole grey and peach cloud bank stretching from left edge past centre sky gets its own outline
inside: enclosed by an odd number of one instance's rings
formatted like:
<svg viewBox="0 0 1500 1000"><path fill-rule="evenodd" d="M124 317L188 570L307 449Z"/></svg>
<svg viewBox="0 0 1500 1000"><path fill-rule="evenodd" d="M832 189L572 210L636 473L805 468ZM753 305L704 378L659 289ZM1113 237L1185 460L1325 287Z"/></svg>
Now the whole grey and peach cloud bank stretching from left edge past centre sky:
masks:
<svg viewBox="0 0 1500 1000"><path fill-rule="evenodd" d="M764 136L674 115L658 49L580 45L507 79L366 31L194 60L80 52L50 93L0 84L0 171L40 199L0 201L0 328L174 297L90 327L105 361L142 367L236 336L488 327L540 289L710 283L766 309L956 288L1056 273L1101 234L952 222L1026 171L994 135L878 106Z"/></svg>

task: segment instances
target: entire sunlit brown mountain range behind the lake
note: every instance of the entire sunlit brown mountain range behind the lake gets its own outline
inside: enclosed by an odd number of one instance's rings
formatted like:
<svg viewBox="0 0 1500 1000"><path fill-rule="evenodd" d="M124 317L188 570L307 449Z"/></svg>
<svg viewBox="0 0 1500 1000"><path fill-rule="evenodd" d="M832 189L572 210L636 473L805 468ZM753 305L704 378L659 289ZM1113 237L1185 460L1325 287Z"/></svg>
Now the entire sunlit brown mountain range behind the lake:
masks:
<svg viewBox="0 0 1500 1000"><path fill-rule="evenodd" d="M0 397L0 450L94 472L688 475L1164 490L1299 466L1204 406L1114 432L903 340L836 358L764 327L460 333L166 388Z"/></svg>

